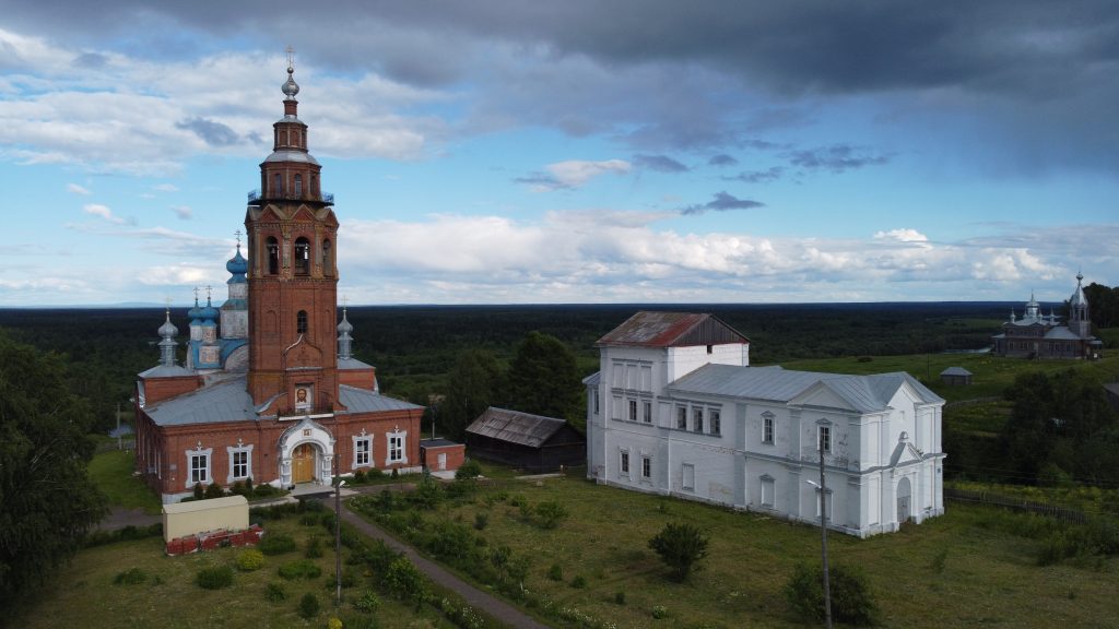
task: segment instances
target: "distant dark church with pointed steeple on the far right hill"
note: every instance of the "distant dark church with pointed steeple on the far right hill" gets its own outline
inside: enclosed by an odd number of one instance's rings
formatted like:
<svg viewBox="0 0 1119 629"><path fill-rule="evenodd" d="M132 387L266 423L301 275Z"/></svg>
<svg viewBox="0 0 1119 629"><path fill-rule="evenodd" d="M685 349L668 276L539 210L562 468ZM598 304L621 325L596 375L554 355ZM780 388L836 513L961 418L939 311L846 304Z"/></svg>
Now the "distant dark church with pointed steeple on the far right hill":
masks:
<svg viewBox="0 0 1119 629"><path fill-rule="evenodd" d="M1003 323L1003 332L991 337L991 354L1013 358L1097 359L1103 356L1103 342L1092 336L1088 298L1076 274L1076 290L1069 298L1069 322L1062 323L1052 310L1042 313L1041 304L1029 295L1025 312Z"/></svg>

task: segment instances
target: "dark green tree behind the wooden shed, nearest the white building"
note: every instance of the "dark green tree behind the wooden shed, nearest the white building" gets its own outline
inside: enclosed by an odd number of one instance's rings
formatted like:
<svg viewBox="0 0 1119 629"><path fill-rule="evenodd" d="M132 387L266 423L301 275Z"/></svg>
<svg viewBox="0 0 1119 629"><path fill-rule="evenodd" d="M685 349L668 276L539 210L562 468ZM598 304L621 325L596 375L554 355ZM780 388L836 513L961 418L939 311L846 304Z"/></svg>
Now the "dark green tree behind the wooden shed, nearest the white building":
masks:
<svg viewBox="0 0 1119 629"><path fill-rule="evenodd" d="M579 421L585 415L575 355L554 336L528 332L509 367L513 410Z"/></svg>

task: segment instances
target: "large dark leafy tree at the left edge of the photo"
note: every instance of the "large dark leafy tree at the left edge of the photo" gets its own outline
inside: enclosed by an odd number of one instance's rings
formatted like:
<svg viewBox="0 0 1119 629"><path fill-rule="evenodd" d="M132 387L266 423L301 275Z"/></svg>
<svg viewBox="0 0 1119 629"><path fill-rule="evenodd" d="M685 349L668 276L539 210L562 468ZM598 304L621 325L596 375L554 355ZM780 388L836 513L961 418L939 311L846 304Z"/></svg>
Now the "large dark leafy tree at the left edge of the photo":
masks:
<svg viewBox="0 0 1119 629"><path fill-rule="evenodd" d="M0 335L0 601L68 561L104 514L86 475L92 414L66 384L58 355Z"/></svg>

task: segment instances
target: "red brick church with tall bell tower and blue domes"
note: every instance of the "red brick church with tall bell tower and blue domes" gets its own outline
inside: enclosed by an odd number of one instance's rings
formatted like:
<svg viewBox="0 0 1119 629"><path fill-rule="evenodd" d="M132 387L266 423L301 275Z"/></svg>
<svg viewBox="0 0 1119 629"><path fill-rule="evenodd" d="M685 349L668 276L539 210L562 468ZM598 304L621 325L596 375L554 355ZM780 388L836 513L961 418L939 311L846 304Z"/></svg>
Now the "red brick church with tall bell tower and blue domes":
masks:
<svg viewBox="0 0 1119 629"><path fill-rule="evenodd" d="M247 260L226 263L228 299L187 312L177 362L170 310L159 365L139 374L137 471L164 503L196 485L329 485L359 469L420 469L423 407L382 395L373 366L350 355L338 317L338 219L308 152L289 63L283 118L245 213Z"/></svg>

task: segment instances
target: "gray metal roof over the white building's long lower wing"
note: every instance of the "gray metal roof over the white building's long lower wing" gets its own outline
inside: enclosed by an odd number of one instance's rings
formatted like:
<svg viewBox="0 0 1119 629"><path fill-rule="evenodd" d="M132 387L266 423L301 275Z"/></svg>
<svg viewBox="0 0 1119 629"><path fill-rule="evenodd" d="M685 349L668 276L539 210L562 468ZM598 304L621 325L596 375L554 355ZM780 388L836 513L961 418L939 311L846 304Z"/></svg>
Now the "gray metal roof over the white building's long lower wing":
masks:
<svg viewBox="0 0 1119 629"><path fill-rule="evenodd" d="M923 403L943 398L904 372L869 376L793 372L781 367L736 367L704 365L668 386L674 394L720 395L788 404L808 392L825 386L862 413L884 411L890 398L908 384Z"/></svg>

